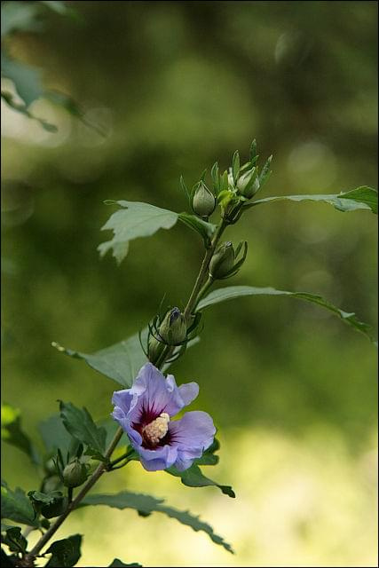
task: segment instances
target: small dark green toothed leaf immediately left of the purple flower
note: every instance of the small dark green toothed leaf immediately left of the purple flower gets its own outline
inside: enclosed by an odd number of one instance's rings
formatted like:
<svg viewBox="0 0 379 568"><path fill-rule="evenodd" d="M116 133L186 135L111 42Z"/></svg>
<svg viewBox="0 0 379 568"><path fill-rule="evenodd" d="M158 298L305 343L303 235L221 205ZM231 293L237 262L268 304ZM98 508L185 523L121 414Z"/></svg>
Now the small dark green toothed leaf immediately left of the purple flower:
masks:
<svg viewBox="0 0 379 568"><path fill-rule="evenodd" d="M60 401L59 409L62 422L72 436L87 444L95 454L105 452L107 432L93 422L86 408L80 409L70 402Z"/></svg>

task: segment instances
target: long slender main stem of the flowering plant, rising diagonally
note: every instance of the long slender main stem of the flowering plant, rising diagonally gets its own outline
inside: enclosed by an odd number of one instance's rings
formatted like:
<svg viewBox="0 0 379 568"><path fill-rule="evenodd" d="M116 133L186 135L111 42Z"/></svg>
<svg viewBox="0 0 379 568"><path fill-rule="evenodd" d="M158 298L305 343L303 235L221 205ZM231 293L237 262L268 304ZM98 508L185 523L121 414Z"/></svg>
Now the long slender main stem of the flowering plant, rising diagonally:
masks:
<svg viewBox="0 0 379 568"><path fill-rule="evenodd" d="M203 294L205 294L205 292L207 291L207 289L209 288L210 284L213 281L213 280L209 279L207 281L207 283L203 286L204 280L206 278L208 278L208 269L209 269L210 259L212 258L213 253L215 252L215 248L217 247L217 242L219 241L222 233L224 232L225 226L226 226L225 221L222 220L220 225L217 228L217 231L216 231L213 239L212 239L210 247L207 249L207 251L206 251L206 253L205 253L205 255L202 259L200 272L199 272L199 274L198 274L198 276L195 280L195 283L193 285L193 291L191 292L191 295L188 299L188 302L187 302L186 308L185 308L185 312L184 312L184 316L185 316L186 322L187 322L187 327L190 323L193 308L195 307L195 305L200 300L200 297ZM203 287L203 288L201 288L201 287ZM162 358L159 360L159 363L157 362L156 367L158 367L158 368L162 367L164 365L164 362L167 359L170 358L170 355L172 355L172 351L174 351L174 349L175 349L174 347L168 346L168 349L163 351ZM67 509L65 510L65 512L62 513L62 515L60 515L60 517L57 518L55 523L53 525L51 525L51 527L46 531L46 533L43 534L41 539L38 540L35 547L32 548L30 550L30 552L28 552L28 555L25 556L25 562L26 562L25 565L34 566L34 561L36 559L36 556L40 552L40 550L51 539L52 535L55 534L58 531L59 526L62 525L62 523L66 520L68 515L77 507L77 505L79 505L80 501L83 500L83 497L85 497L85 495L90 491L91 487L97 483L97 481L99 480L99 477L101 477L103 475L103 473L105 471L107 471L108 460L109 460L110 456L113 454L115 447L119 443L119 441L122 437L122 433L123 433L123 430L120 427L116 431L114 438L113 438L112 442L110 443L110 445L107 449L107 453L105 454L105 458L106 458L107 461L101 461L99 463L99 466L97 467L97 469L95 469L95 471L92 473L91 477L88 479L86 484L83 485L82 490L76 495L74 500L72 500L68 503ZM125 456L122 456L122 459L124 457ZM115 460L113 462L113 464L117 463L118 461L121 461L121 458L119 458L118 460Z"/></svg>

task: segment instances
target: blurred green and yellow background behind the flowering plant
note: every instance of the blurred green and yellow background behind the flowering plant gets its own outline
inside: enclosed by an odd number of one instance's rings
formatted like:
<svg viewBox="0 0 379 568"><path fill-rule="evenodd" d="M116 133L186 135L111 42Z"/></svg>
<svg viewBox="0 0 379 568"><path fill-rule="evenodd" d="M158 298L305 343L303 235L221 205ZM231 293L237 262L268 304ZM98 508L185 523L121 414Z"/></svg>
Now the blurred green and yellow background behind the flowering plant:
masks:
<svg viewBox="0 0 379 568"><path fill-rule="evenodd" d="M252 138L263 159L273 154L262 196L376 186L377 3L67 4L80 19L47 13L42 33L15 35L9 49L43 68L46 87L70 93L107 137L44 100L33 111L56 134L3 108L3 397L36 439L57 398L101 418L118 388L51 341L91 352L135 333L165 293L186 304L201 260L200 240L178 225L133 241L119 268L110 256L99 261L108 236L99 228L114 210L104 200L184 210L179 176L193 185L216 160L227 167L235 149L247 158ZM226 234L249 241L229 285L313 292L375 326L370 213L278 202ZM214 525L236 556L159 515L94 509L59 532L84 533L78 565L114 556L144 565L376 565L375 348L293 299L240 299L204 320L201 343L172 369L178 383L200 383L193 408L212 414L223 444L212 474L237 499L138 464L102 489L168 497ZM3 450L4 477L35 489L27 458Z"/></svg>

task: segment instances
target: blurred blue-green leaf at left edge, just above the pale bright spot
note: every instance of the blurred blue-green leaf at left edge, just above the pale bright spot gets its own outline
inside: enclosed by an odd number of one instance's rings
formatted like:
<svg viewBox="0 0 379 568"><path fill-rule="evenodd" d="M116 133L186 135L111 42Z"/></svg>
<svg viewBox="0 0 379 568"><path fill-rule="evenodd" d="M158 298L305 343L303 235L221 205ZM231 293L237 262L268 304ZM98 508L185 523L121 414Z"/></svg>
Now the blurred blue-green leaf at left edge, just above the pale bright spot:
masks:
<svg viewBox="0 0 379 568"><path fill-rule="evenodd" d="M34 100L43 95L43 85L41 83L41 71L36 67L30 67L14 59L10 59L2 53L1 74L14 83L17 93L29 106Z"/></svg>

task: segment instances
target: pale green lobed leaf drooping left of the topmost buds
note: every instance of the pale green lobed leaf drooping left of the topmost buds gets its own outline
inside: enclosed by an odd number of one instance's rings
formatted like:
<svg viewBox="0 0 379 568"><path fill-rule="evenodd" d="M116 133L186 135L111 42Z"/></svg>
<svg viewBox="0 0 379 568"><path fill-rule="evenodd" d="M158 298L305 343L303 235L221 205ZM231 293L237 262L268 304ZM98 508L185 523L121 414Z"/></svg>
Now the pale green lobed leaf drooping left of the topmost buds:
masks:
<svg viewBox="0 0 379 568"><path fill-rule="evenodd" d="M101 230L114 232L112 241L102 242L99 247L100 256L113 250L113 256L120 264L128 254L129 241L139 237L149 237L159 229L170 229L178 221L178 213L161 209L149 203L138 201L115 201L122 209L116 211L107 220Z"/></svg>

